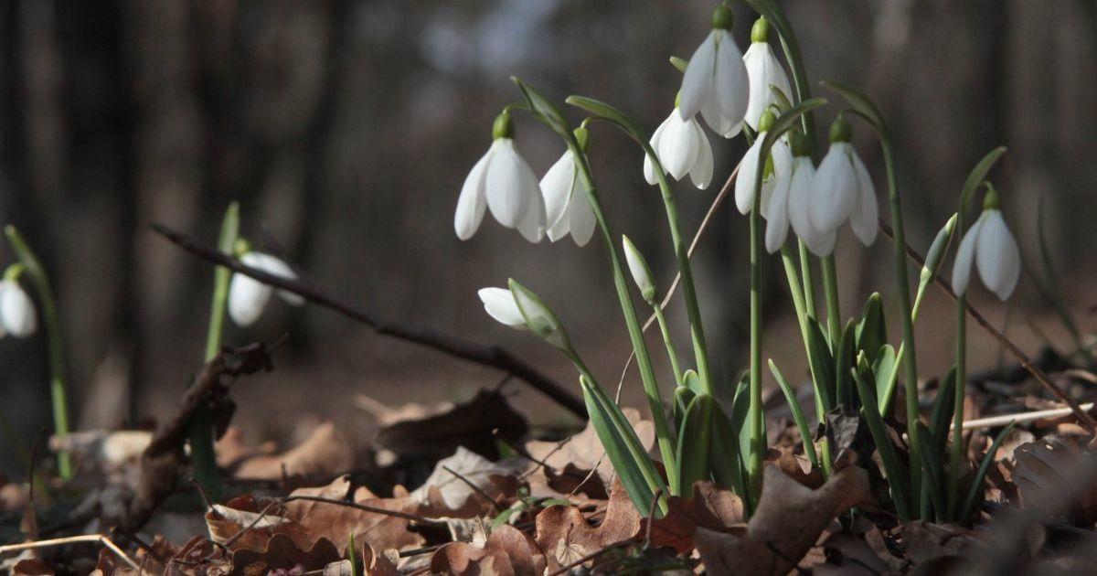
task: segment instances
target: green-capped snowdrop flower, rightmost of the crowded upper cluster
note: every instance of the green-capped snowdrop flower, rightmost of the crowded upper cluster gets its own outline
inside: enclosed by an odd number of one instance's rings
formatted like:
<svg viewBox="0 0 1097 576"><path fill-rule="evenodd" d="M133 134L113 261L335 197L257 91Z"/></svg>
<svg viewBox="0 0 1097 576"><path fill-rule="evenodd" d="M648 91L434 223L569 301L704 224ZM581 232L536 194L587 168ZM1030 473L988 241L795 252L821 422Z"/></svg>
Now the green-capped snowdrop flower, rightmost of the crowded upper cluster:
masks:
<svg viewBox="0 0 1097 576"><path fill-rule="evenodd" d="M861 244L877 239L877 192L868 168L849 144L849 123L841 115L830 124L830 149L815 173L808 213L819 233L837 230L849 219L849 227Z"/></svg>

